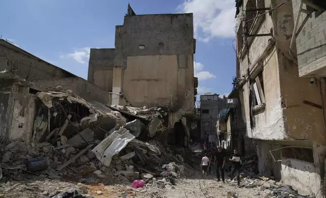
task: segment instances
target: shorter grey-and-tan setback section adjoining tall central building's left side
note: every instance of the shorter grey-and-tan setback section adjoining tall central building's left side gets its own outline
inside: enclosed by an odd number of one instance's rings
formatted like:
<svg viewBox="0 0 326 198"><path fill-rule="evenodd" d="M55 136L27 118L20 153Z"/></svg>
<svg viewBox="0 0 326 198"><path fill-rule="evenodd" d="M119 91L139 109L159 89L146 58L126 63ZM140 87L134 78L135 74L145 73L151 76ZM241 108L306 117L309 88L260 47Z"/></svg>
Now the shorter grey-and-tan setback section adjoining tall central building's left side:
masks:
<svg viewBox="0 0 326 198"><path fill-rule="evenodd" d="M88 81L106 91L112 91L114 48L91 48Z"/></svg>

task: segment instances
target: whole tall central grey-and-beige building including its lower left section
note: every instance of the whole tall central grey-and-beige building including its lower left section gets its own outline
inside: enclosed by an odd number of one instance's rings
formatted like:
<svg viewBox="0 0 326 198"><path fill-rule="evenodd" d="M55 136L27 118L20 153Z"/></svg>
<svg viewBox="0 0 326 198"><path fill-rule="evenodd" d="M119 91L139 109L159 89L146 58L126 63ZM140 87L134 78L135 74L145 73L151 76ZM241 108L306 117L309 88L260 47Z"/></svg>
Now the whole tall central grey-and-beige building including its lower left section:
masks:
<svg viewBox="0 0 326 198"><path fill-rule="evenodd" d="M186 117L193 120L197 87L194 53L191 13L136 15L128 5L124 25L115 27L115 48L91 49L88 80L110 92L111 105L170 109L170 130L161 138L187 145ZM175 127L184 132L176 136Z"/></svg>

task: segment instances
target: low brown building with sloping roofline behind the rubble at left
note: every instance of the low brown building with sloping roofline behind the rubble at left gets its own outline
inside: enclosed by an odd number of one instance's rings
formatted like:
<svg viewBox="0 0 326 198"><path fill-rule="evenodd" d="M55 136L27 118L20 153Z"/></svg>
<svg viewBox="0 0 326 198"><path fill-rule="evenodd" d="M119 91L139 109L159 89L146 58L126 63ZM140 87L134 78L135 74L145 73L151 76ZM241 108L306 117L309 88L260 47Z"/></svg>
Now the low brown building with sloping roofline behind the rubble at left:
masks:
<svg viewBox="0 0 326 198"><path fill-rule="evenodd" d="M109 102L109 93L106 90L39 59L4 39L0 39L0 71L9 71L22 79L43 85L46 88L62 86L86 100L103 104Z"/></svg>

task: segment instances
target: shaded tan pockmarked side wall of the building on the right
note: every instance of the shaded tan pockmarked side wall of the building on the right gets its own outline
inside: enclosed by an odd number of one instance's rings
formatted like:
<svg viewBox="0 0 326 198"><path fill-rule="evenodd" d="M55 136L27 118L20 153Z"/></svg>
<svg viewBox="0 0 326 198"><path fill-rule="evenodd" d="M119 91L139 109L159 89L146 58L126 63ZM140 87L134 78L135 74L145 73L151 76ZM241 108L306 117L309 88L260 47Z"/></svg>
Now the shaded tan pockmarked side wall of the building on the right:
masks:
<svg viewBox="0 0 326 198"><path fill-rule="evenodd" d="M285 124L284 132L296 139L309 139L325 145L326 140L323 137L326 132L321 109L320 81L316 80L311 84L309 78L299 77L300 65L298 67L297 62L291 60L288 55L291 39L283 36L292 34L294 29L291 2L284 4L282 9L276 13L275 18L282 19L275 20L275 28L277 29L274 33L277 38L276 48ZM304 101L319 105L320 108L304 104Z"/></svg>

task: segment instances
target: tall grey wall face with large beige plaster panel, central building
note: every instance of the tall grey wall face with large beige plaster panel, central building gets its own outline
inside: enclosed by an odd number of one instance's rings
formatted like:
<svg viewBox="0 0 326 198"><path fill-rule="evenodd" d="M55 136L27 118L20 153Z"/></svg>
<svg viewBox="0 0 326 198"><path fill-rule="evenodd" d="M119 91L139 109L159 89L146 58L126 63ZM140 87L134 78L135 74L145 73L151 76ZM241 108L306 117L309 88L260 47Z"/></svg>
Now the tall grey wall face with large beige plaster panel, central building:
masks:
<svg viewBox="0 0 326 198"><path fill-rule="evenodd" d="M193 111L194 48L192 14L125 16L115 31L112 91L135 107Z"/></svg>

